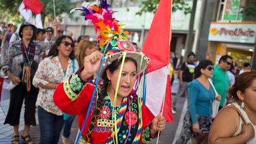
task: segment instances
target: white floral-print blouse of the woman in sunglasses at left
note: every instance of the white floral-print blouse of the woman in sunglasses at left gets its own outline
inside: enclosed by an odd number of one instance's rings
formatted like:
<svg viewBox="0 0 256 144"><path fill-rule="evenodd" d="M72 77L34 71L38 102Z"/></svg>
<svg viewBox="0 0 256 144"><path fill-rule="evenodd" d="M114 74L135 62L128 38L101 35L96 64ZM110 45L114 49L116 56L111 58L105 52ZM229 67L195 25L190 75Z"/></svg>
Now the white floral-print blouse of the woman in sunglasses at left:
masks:
<svg viewBox="0 0 256 144"><path fill-rule="evenodd" d="M74 66L73 66L74 64ZM73 69L74 68L74 69ZM79 69L77 61L69 59L69 64L67 65L66 75L61 67L61 62L59 62L59 57L46 57L39 64L36 70L35 77L33 78L33 85L39 87L39 83L46 85L47 83L61 83L74 72ZM62 111L53 103L53 93L54 89L45 89L39 87L39 93L36 100L36 106L41 106L45 111L51 112L58 116L62 115Z"/></svg>

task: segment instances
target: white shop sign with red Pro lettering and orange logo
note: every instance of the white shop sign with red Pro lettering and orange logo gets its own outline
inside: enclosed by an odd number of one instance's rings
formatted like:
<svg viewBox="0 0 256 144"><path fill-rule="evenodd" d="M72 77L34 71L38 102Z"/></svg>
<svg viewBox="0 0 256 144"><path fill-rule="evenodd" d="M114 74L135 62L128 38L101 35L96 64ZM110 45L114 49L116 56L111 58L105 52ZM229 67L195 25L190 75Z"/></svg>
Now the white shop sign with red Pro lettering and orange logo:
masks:
<svg viewBox="0 0 256 144"><path fill-rule="evenodd" d="M255 43L256 23L211 23L209 41Z"/></svg>

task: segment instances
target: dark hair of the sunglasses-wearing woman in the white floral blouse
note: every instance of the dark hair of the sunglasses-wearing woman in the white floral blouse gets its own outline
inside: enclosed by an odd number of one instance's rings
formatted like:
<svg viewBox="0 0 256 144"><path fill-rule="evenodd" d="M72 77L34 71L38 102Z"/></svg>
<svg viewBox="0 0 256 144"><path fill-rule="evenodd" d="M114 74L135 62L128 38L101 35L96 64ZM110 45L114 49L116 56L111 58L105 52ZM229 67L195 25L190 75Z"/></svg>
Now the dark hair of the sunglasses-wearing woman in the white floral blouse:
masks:
<svg viewBox="0 0 256 144"><path fill-rule="evenodd" d="M72 44L74 44L74 41L70 36L68 36L68 35L59 36L59 38L57 38L57 40L55 41L53 46L51 46L48 57L49 56L52 56L52 57L58 56L58 54L59 54L58 46L61 44L62 40L64 40L65 38L69 38L72 41ZM69 54L69 58L72 60L75 59L74 48L72 48L72 51Z"/></svg>

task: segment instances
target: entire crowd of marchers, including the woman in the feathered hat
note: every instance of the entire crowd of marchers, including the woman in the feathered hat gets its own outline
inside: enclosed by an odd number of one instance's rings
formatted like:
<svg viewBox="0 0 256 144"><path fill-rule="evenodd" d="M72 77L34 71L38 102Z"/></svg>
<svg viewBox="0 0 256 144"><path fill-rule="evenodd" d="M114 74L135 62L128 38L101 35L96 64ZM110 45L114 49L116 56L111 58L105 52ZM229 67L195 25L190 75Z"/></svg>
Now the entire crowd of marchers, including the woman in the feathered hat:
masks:
<svg viewBox="0 0 256 144"><path fill-rule="evenodd" d="M93 9L112 17L107 4L83 10L91 14ZM89 13L82 14L92 19ZM92 22L98 27L95 20ZM115 19L106 23L106 29L96 29L102 31L97 41L85 35L74 40L71 34L54 34L57 20L45 29L23 22L19 32L11 23L7 28L6 23L0 23L1 70L15 85L4 122L14 129L12 144L19 144L20 138L27 144L35 143L29 131L36 125L36 109L40 144L56 144L60 137L62 143L69 144L76 116L79 143L148 143L165 129L164 116L153 116L134 87L150 60L138 53L136 43L126 39L127 33L121 33ZM173 114L179 98L188 97L176 143L197 140L204 132L209 132L211 144L256 143L256 72L251 71L250 64L244 63L238 70L231 56L221 56L214 65L208 55L199 61L192 52L185 62L182 59L174 54L169 64L171 84L174 71L179 80L170 108ZM25 126L20 135L23 101ZM213 111L219 112L215 115Z"/></svg>

